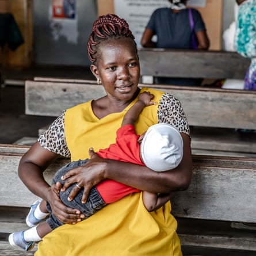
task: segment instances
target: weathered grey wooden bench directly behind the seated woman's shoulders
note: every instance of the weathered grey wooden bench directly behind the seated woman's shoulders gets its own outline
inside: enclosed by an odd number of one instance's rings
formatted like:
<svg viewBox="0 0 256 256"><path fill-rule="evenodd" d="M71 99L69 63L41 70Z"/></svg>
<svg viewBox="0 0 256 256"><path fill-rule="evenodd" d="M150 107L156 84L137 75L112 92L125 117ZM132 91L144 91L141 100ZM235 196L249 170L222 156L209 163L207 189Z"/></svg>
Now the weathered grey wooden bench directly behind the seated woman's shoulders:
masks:
<svg viewBox="0 0 256 256"><path fill-rule="evenodd" d="M143 85L181 101L192 134L193 154L256 156L256 92L170 85ZM25 82L25 113L58 116L64 109L105 95L95 81L35 78ZM40 132L43 132L41 129Z"/></svg>

